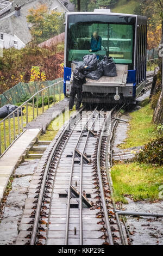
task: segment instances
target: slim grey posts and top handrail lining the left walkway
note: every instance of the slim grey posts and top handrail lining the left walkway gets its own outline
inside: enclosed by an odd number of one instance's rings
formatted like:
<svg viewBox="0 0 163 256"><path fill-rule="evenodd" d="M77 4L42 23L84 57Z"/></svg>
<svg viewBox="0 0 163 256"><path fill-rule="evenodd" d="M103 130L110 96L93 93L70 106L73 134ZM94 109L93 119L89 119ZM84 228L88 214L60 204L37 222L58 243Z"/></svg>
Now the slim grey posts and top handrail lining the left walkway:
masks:
<svg viewBox="0 0 163 256"><path fill-rule="evenodd" d="M55 103L55 86L57 84L62 83L64 80L60 80L57 83L51 84L50 86L47 86L45 88L42 88L38 92L36 92L33 96L30 97L27 101L23 102L21 106L17 107L14 111L12 111L7 117L5 117L3 120L0 121L0 133L1 133L1 125L3 124L3 130L4 130L4 151L2 152L2 136L0 134L0 157L7 151L10 147L10 145L16 141L17 136L20 136L23 132L24 129L26 129L26 126L23 126L23 107L26 106L26 125L28 124L28 103L29 101L32 101L32 107L33 107L33 119L35 119L35 104L34 104L34 97L36 96L36 116L39 115L39 107L38 107L38 95L42 95L42 113L44 112L44 95L43 92L46 90L47 96L48 97L48 108L49 108L49 88L53 87L53 103ZM59 101L61 100L61 89L59 88ZM17 113L17 116L16 116ZM41 113L41 114L42 114ZM13 122L13 127L11 131L11 120L10 118L13 117L12 122ZM16 127L15 127L15 118L17 118L17 125L18 125L18 132L16 134ZM7 135L6 135L6 126L5 123L8 120L9 123L9 146L7 147ZM14 134L14 139L11 139L11 132Z"/></svg>

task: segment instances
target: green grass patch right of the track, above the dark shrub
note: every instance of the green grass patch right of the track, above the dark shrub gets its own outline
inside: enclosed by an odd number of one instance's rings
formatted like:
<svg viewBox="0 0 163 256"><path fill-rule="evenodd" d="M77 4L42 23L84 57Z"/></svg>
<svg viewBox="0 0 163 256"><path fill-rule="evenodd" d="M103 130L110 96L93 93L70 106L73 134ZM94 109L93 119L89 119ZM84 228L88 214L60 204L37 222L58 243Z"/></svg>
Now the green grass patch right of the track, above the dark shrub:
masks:
<svg viewBox="0 0 163 256"><path fill-rule="evenodd" d="M118 145L119 148L142 146L156 138L156 125L152 124L153 109L150 104L130 113L130 117L127 139L124 144Z"/></svg>

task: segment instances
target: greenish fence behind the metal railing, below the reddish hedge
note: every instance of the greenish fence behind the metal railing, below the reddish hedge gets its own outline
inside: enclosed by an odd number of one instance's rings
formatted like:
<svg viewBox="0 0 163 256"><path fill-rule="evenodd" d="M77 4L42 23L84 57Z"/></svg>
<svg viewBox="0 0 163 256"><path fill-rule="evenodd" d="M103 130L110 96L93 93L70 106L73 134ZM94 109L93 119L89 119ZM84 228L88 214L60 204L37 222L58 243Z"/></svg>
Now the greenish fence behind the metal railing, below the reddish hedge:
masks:
<svg viewBox="0 0 163 256"><path fill-rule="evenodd" d="M18 83L16 86L0 95L0 107L9 103L16 105L18 102L22 101L22 96L32 96L43 87L51 86L51 84L57 83L61 80L62 78L45 82ZM57 94L57 88L55 88L55 90L55 93Z"/></svg>

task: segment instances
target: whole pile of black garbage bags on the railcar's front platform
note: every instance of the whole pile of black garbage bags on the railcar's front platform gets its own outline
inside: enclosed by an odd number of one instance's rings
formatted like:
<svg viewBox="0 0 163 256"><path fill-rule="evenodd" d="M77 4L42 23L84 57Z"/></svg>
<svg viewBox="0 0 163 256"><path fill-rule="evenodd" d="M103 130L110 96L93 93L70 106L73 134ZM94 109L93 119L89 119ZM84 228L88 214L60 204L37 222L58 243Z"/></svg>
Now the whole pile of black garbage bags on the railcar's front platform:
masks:
<svg viewBox="0 0 163 256"><path fill-rule="evenodd" d="M87 54L83 57L83 62L74 61L76 68L87 66L85 75L87 78L99 80L101 76L117 76L116 65L112 57L105 56L100 62L96 54Z"/></svg>

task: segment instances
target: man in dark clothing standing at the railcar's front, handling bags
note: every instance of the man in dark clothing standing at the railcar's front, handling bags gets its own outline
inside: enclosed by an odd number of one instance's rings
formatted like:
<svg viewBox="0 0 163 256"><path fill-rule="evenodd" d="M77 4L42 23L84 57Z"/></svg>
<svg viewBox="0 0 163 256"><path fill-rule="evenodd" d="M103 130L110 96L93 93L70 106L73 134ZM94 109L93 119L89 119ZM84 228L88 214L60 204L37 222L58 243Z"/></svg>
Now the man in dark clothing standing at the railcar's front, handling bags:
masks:
<svg viewBox="0 0 163 256"><path fill-rule="evenodd" d="M86 78L84 75L85 68L84 66L79 66L78 69L73 71L73 80L70 93L69 109L72 110L74 105L74 98L77 94L77 104L76 111L79 111L81 102L82 102L82 86L86 83Z"/></svg>

